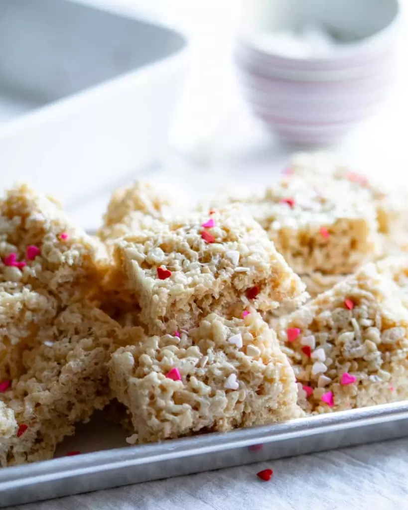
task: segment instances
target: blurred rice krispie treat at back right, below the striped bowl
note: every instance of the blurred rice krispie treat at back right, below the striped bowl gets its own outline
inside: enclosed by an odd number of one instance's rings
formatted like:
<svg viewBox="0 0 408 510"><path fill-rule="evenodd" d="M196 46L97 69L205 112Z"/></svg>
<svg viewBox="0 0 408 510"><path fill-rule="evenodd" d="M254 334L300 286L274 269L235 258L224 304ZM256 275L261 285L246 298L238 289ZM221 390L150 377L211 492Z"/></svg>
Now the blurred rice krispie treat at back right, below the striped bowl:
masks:
<svg viewBox="0 0 408 510"><path fill-rule="evenodd" d="M291 175L263 194L221 197L242 202L289 266L298 274L349 274L380 252L376 212L363 191L348 182Z"/></svg>

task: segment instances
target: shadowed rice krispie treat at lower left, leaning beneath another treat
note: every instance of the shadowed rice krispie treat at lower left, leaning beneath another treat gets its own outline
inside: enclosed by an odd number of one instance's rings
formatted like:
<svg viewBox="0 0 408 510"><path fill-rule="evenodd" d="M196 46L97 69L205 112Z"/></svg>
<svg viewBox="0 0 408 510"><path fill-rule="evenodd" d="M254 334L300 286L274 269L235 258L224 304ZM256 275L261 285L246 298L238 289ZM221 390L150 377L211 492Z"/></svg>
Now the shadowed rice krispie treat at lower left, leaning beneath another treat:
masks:
<svg viewBox="0 0 408 510"><path fill-rule="evenodd" d="M103 409L107 362L119 339L115 321L74 304L42 331L42 343L22 350L22 374L0 374L0 465L51 458L76 422Z"/></svg>

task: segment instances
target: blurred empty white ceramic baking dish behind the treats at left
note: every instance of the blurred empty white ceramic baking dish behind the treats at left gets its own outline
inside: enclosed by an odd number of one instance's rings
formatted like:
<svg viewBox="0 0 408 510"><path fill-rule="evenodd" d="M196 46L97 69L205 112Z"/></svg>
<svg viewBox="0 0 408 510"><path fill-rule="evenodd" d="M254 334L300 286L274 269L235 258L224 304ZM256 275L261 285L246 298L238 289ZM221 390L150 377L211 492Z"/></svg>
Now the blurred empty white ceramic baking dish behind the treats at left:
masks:
<svg viewBox="0 0 408 510"><path fill-rule="evenodd" d="M83 0L2 0L0 188L29 181L69 205L137 175L165 147L187 46Z"/></svg>

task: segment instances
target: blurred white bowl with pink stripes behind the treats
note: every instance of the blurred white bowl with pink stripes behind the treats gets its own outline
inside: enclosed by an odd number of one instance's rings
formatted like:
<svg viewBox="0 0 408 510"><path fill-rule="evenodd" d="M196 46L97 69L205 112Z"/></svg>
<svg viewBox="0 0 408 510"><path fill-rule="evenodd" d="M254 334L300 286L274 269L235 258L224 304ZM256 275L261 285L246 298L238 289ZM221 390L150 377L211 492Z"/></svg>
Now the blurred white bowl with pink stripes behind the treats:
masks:
<svg viewBox="0 0 408 510"><path fill-rule="evenodd" d="M339 141L386 96L398 0L247 0L235 50L243 93L274 133L301 145ZM341 37L324 55L288 56L265 36L314 24Z"/></svg>

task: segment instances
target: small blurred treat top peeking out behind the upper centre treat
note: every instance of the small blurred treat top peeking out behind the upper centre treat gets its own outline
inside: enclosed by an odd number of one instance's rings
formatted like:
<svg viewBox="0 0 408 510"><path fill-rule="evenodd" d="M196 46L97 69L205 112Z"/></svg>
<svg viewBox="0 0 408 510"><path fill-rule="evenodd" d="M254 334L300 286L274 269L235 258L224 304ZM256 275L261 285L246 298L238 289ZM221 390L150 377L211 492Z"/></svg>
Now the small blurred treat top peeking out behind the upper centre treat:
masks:
<svg viewBox="0 0 408 510"><path fill-rule="evenodd" d="M136 214L132 214L136 213ZM104 215L104 224L98 231L103 241L117 239L138 230L143 216L165 218L169 214L169 202L149 184L137 181L116 190Z"/></svg>

